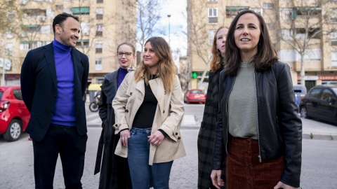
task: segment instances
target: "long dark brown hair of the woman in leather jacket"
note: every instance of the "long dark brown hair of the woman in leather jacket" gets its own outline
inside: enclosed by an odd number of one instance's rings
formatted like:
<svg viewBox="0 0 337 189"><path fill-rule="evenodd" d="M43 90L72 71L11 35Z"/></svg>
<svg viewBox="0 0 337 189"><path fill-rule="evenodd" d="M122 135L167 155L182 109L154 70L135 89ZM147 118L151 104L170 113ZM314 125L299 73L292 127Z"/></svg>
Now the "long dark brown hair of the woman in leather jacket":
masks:
<svg viewBox="0 0 337 189"><path fill-rule="evenodd" d="M260 21L261 34L258 41L258 52L256 52L256 55L251 60L252 62L255 62L255 69L257 71L265 71L279 59L277 57L277 51L274 45L272 45L272 40L270 39L263 17L253 10L243 10L232 21L226 39L225 73L231 76L237 75L242 62L240 50L235 44L234 31L237 25L237 20L239 20L239 18L246 13L256 15Z"/></svg>

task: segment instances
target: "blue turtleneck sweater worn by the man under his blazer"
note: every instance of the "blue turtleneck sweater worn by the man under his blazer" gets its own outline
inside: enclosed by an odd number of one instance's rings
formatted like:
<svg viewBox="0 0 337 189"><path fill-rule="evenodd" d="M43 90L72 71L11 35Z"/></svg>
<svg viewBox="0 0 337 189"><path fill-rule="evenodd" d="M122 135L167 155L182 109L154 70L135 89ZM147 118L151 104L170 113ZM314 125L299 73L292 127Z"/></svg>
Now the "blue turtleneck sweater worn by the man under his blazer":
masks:
<svg viewBox="0 0 337 189"><path fill-rule="evenodd" d="M66 126L76 126L74 101L74 66L71 47L63 45L54 38L53 50L55 58L56 77L58 80L58 96L51 123Z"/></svg>

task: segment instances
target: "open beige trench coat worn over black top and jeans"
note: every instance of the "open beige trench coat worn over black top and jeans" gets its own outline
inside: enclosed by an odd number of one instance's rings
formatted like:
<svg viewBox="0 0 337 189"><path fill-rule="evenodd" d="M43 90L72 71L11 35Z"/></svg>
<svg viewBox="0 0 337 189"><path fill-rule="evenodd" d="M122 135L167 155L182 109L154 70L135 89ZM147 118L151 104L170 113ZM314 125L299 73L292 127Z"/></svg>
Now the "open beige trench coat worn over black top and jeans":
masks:
<svg viewBox="0 0 337 189"><path fill-rule="evenodd" d="M134 72L126 75L112 101L116 115L115 134L126 128L131 130L133 119L144 100L144 80L141 79L136 83L133 75ZM183 158L186 153L180 134L180 124L184 115L184 102L179 78L176 76L170 93L164 91L164 84L160 78L150 80L149 83L158 101L152 133L161 129L167 134L158 147L150 145L149 165ZM127 158L128 147L121 145L119 141L114 153Z"/></svg>

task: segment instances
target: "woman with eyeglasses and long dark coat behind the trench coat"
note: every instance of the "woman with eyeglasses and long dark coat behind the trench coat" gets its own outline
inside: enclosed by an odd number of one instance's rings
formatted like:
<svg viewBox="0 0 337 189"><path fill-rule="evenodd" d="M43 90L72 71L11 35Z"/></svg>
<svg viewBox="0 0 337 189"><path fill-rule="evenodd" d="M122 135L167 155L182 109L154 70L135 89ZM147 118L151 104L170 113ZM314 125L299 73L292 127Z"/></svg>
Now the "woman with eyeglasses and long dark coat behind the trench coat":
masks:
<svg viewBox="0 0 337 189"><path fill-rule="evenodd" d="M107 73L104 77L102 92L100 94L99 116L102 120L102 134L98 144L98 154L95 164L95 174L100 172L100 184L102 189L124 189L132 188L128 160L118 155L114 155L115 148L119 141L119 135L114 134L114 109L112 109L112 99L117 93L117 89L124 80L128 69L132 67L136 59L135 47L131 43L121 43L117 47L117 59L119 69L112 73ZM102 160L103 153L103 160ZM102 161L102 164L101 164ZM100 168L101 166L101 168Z"/></svg>

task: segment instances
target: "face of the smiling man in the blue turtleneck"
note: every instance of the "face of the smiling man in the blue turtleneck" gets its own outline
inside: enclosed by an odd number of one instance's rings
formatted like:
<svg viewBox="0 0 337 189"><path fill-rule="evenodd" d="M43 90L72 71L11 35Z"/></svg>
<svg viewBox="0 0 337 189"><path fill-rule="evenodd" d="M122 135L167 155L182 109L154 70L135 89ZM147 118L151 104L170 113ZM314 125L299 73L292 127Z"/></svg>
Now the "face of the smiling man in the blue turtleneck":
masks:
<svg viewBox="0 0 337 189"><path fill-rule="evenodd" d="M75 47L76 42L79 39L79 22L74 18L68 17L60 25L55 26L56 35L55 38L60 43L67 45L68 47Z"/></svg>

